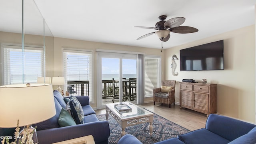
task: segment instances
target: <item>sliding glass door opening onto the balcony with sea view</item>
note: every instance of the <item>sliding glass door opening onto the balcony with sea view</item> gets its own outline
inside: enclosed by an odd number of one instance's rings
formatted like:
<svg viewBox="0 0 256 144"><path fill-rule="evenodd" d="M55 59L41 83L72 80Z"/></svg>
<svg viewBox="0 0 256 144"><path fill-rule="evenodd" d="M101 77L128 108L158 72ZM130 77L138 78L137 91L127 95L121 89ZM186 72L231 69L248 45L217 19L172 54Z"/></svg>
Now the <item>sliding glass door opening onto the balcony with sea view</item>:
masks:
<svg viewBox="0 0 256 144"><path fill-rule="evenodd" d="M99 52L97 56L98 108L104 108L106 103L135 101L129 97L128 84L129 78L137 78L136 54ZM133 90L135 93L136 87Z"/></svg>

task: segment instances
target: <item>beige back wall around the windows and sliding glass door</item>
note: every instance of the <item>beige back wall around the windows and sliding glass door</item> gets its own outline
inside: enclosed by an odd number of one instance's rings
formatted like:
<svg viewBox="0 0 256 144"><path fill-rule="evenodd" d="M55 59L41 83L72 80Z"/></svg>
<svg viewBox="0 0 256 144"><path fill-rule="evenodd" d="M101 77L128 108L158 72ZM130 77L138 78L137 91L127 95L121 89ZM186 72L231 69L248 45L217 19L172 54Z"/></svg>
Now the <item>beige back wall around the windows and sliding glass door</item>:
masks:
<svg viewBox="0 0 256 144"><path fill-rule="evenodd" d="M165 58L164 52L160 52L160 49L153 49L153 48L142 48L142 47L135 47L135 46L125 46L119 44L108 44L108 43L100 43L100 42L89 42L89 41L82 41L82 40L72 40L66 38L54 38L54 75L55 76L63 76L63 61L62 61L62 48L74 48L74 49L86 49L93 51L93 102L90 105L93 108L97 107L97 56L96 56L96 49L104 49L104 50L118 50L118 51L128 51L128 52L142 52L147 55L158 55L162 56L161 68L162 68L162 79L164 79L164 72L165 72ZM48 58L48 56L46 56Z"/></svg>

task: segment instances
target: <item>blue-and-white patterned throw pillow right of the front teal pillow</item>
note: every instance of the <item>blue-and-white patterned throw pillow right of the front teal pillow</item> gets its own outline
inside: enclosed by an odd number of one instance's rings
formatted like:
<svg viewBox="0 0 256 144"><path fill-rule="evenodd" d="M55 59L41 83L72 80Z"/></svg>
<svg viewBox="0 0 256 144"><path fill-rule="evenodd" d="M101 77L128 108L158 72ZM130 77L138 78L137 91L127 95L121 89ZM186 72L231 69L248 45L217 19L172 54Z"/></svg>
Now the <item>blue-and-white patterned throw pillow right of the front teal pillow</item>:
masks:
<svg viewBox="0 0 256 144"><path fill-rule="evenodd" d="M76 97L71 96L69 101L69 106L71 109L72 117L74 118L76 124L84 123L84 111L80 104L80 102L76 99Z"/></svg>

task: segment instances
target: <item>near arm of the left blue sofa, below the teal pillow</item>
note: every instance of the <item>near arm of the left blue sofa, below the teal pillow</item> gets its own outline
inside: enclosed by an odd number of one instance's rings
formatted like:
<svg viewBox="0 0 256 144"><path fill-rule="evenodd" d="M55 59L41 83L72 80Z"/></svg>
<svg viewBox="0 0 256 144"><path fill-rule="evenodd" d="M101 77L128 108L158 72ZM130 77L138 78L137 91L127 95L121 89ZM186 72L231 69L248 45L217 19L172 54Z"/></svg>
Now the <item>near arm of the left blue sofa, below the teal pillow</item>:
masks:
<svg viewBox="0 0 256 144"><path fill-rule="evenodd" d="M98 143L108 140L109 134L109 124L106 120L37 131L40 144L52 144L88 135L92 135L95 143Z"/></svg>

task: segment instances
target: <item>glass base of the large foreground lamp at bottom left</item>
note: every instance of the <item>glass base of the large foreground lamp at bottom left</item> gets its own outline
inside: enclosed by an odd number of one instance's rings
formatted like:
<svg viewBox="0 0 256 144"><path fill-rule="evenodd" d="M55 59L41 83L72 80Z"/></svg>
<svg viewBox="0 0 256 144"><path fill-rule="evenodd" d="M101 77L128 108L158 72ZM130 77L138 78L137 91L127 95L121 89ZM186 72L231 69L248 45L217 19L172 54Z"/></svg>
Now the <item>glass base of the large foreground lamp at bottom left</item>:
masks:
<svg viewBox="0 0 256 144"><path fill-rule="evenodd" d="M30 139L30 134L32 134L32 139ZM30 144L30 143L37 144L37 134L36 129L33 128L31 125L24 126L23 130L20 131L19 139L17 140L18 144Z"/></svg>

